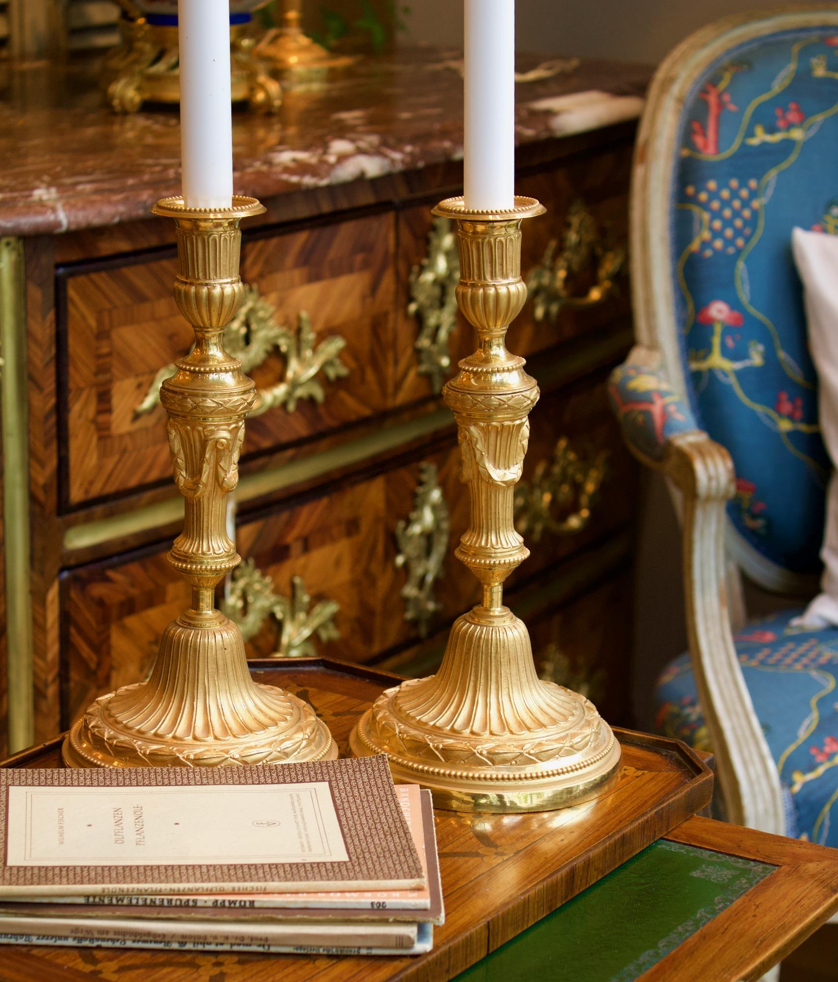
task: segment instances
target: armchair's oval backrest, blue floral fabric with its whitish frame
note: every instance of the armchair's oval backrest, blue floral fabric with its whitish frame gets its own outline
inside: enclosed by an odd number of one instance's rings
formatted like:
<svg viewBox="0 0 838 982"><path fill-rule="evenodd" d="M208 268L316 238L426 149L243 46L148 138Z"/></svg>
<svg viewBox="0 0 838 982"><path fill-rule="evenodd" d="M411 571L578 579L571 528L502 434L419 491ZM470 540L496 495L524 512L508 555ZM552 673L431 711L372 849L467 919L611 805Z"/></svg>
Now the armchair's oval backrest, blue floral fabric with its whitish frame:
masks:
<svg viewBox="0 0 838 982"><path fill-rule="evenodd" d="M639 342L733 458L729 548L811 591L830 464L791 236L838 234L838 5L728 18L669 55L631 224Z"/></svg>

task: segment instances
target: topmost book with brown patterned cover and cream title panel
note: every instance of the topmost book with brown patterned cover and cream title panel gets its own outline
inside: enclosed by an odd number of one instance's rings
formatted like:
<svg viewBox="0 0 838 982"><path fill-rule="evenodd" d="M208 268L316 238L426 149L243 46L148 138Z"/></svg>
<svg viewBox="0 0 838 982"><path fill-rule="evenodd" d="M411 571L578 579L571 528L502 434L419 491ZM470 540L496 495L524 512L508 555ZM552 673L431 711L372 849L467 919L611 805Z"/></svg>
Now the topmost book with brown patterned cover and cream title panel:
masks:
<svg viewBox="0 0 838 982"><path fill-rule="evenodd" d="M0 771L0 896L407 890L425 876L384 756Z"/></svg>

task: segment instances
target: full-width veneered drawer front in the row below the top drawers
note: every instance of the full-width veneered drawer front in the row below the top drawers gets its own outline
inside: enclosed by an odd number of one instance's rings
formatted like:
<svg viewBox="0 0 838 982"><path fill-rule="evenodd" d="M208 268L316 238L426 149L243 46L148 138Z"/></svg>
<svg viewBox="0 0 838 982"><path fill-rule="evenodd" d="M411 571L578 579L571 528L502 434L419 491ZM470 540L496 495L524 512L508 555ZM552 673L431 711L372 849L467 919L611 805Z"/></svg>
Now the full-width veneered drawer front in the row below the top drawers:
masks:
<svg viewBox="0 0 838 982"><path fill-rule="evenodd" d="M588 503L590 516L578 528L556 532L550 521L560 526L579 511L577 485L566 463L554 480L550 477L552 451L562 437L582 460L587 459L589 441L592 453L606 449L610 456L602 486ZM241 516L238 550L252 567L248 599L236 619L247 637L248 655L316 651L368 662L410 643L422 630L449 623L477 602L476 579L453 556L469 511L459 467L450 431L404 463L393 461L383 473L358 472L303 500ZM526 539L533 554L514 575L531 576L624 525L634 508L632 475L633 464L622 451L602 382L544 398L533 412L527 483L522 485L539 489L538 508L532 506L532 494L526 499ZM561 490L562 481L570 485L567 493ZM423 499L423 485L426 492L433 485L439 493ZM444 519L435 513L427 527L424 510L433 510L440 501L445 502L449 535L438 537ZM534 516L541 516L538 541ZM165 560L168 547L168 542L160 543L65 574L65 724L96 695L144 678L163 628L187 606L183 578ZM416 564L433 552L441 563L432 589L424 591L424 575ZM412 593L405 589L411 582Z"/></svg>

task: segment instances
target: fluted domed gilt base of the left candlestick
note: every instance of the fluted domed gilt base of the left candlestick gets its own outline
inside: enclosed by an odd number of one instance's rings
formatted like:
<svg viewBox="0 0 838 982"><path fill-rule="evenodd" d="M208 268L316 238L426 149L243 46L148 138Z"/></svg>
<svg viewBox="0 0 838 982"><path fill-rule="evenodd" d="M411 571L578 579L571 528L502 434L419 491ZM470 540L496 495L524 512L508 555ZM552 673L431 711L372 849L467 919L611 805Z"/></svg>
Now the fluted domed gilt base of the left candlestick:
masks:
<svg viewBox="0 0 838 982"><path fill-rule="evenodd" d="M218 611L166 628L148 682L98 698L73 727L69 767L217 767L334 760L314 710L250 677L241 633Z"/></svg>

